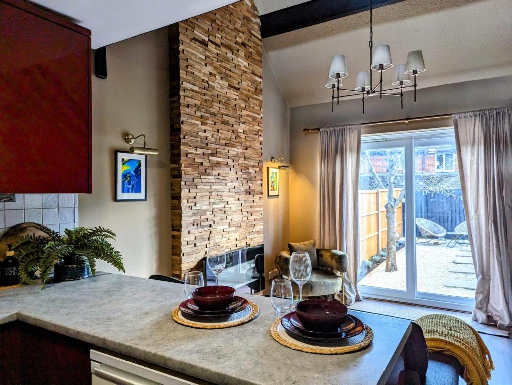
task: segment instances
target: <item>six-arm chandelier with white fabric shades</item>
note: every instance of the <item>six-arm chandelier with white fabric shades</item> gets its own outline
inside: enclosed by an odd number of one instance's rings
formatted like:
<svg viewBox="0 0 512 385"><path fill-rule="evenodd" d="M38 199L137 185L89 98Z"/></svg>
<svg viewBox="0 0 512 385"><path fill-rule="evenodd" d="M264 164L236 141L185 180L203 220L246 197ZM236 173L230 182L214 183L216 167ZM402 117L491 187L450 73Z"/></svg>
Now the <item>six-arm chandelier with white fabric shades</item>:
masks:
<svg viewBox="0 0 512 385"><path fill-rule="evenodd" d="M395 87L382 89L382 73L391 69L393 63L391 61L391 51L388 44L379 44L373 52L373 0L370 0L370 71L361 71L357 74L356 86L354 89L343 88L343 78L349 73L347 71L347 63L345 55L335 55L332 57L331 66L329 68L329 77L326 87L332 90L332 108L334 111L334 99L339 105L340 98L346 98L354 95L362 96L362 113L365 113L365 100L371 96L395 96L400 97L400 109L403 109L403 88L414 88L414 103L416 103L416 76L425 71L423 62L423 54L421 51L410 51L407 54L406 64L395 65L395 81L391 84ZM373 86L373 71L380 72L380 81ZM410 76L413 77L413 84ZM377 90L378 88L378 90ZM400 93L396 93L399 89ZM339 95L340 90L349 91L351 94ZM336 94L334 93L336 91ZM391 91L394 91L392 93Z"/></svg>

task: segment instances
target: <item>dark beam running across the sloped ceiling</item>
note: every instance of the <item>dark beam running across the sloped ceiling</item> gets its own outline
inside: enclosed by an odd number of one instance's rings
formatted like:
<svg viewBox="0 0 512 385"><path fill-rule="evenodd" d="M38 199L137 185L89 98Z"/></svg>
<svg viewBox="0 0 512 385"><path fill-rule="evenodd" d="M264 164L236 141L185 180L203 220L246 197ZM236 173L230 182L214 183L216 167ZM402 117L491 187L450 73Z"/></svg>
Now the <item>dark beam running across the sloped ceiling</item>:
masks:
<svg viewBox="0 0 512 385"><path fill-rule="evenodd" d="M374 0L373 8L403 0ZM260 16L263 38L370 9L369 0L310 0Z"/></svg>

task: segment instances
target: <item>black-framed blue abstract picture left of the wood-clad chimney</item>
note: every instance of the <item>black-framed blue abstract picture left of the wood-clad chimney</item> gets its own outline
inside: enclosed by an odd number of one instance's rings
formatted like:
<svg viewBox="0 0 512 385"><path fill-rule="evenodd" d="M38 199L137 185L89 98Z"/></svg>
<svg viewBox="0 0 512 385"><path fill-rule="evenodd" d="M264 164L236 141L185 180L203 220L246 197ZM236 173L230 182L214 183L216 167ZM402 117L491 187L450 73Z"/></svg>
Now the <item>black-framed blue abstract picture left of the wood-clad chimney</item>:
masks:
<svg viewBox="0 0 512 385"><path fill-rule="evenodd" d="M116 151L116 201L147 199L146 155Z"/></svg>

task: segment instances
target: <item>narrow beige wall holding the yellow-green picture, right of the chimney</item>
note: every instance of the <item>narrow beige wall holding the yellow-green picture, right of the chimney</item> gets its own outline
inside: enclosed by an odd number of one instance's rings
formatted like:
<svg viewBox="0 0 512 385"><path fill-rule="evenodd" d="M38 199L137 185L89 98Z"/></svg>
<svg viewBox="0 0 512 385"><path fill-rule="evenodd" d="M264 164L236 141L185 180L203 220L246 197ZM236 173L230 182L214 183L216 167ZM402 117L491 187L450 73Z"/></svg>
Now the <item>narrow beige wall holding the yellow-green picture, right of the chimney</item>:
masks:
<svg viewBox="0 0 512 385"><path fill-rule="evenodd" d="M279 197L267 197L267 167L270 158L285 158L289 164L289 107L281 86L263 53L263 242L265 279L275 268L274 256L286 248L290 238L290 171L280 171ZM281 163L280 163L281 164Z"/></svg>

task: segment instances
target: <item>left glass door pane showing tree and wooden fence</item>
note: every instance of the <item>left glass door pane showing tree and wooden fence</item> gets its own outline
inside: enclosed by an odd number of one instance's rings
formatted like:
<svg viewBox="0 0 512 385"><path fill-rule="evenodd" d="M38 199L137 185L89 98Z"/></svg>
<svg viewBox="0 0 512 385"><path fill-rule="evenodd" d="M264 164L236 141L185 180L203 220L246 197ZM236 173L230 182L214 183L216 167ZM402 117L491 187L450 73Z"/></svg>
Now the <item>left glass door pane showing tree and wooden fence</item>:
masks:
<svg viewBox="0 0 512 385"><path fill-rule="evenodd" d="M361 151L359 285L406 290L404 152Z"/></svg>

